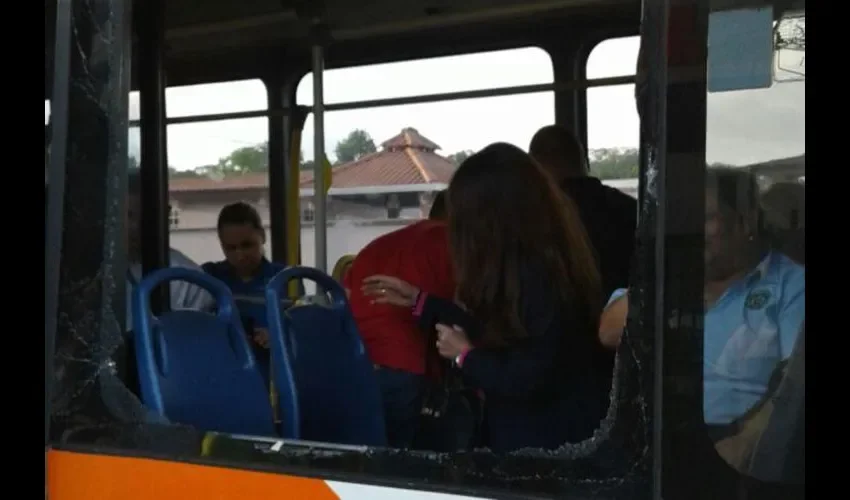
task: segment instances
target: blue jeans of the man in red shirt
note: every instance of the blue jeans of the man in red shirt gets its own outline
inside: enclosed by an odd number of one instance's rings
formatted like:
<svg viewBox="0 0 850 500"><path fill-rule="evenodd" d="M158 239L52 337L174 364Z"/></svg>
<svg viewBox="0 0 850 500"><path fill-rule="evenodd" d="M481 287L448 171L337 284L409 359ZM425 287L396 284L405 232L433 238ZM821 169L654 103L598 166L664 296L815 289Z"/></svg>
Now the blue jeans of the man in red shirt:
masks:
<svg viewBox="0 0 850 500"><path fill-rule="evenodd" d="M384 406L387 441L393 448L410 448L419 430L425 377L378 367L375 370Z"/></svg>

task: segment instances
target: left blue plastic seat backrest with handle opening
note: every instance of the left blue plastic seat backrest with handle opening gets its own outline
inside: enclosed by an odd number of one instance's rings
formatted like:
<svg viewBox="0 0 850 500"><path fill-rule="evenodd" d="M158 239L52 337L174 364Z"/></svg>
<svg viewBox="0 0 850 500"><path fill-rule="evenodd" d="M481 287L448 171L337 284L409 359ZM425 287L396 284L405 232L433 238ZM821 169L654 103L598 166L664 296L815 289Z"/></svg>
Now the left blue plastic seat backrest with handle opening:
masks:
<svg viewBox="0 0 850 500"><path fill-rule="evenodd" d="M153 316L151 290L175 280L206 289L218 312ZM227 285L194 269L155 271L135 289L133 327L142 399L153 411L206 431L276 434L268 393Z"/></svg>

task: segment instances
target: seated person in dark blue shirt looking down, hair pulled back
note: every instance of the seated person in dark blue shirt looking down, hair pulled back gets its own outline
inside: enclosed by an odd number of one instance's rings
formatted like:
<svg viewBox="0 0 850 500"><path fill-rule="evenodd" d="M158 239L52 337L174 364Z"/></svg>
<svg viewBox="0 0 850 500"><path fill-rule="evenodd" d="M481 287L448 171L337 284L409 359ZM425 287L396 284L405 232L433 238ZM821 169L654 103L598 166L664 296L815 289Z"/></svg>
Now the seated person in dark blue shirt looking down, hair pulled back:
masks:
<svg viewBox="0 0 850 500"><path fill-rule="evenodd" d="M264 256L266 231L260 214L243 202L225 206L218 214L218 239L225 260L207 262L202 267L230 287L239 308L245 332L255 346L255 357L266 385L271 376L266 284L284 266Z"/></svg>

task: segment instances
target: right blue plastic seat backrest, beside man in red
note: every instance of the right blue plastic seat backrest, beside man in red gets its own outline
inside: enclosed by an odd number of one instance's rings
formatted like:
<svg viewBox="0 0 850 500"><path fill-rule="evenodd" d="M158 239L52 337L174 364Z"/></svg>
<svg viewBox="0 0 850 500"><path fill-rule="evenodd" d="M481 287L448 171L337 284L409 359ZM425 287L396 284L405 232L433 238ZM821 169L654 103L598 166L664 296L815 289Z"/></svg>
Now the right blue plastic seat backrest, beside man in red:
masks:
<svg viewBox="0 0 850 500"><path fill-rule="evenodd" d="M330 295L330 305L281 311L279 297L293 279L314 281ZM269 281L266 297L275 384L282 402L297 388L301 439L386 446L374 368L342 287L317 269L290 267ZM290 369L278 369L281 363Z"/></svg>

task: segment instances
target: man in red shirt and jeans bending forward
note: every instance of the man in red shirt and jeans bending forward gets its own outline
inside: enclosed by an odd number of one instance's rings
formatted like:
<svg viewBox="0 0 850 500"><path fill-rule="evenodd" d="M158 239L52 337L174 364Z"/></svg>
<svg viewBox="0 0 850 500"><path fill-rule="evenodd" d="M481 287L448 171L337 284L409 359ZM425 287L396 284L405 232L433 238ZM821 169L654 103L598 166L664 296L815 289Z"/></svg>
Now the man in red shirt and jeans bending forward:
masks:
<svg viewBox="0 0 850 500"><path fill-rule="evenodd" d="M354 259L345 276L349 304L381 388L390 446L409 448L419 426L425 390L427 338L411 311L373 304L361 291L375 274L397 276L438 297L453 297L454 275L444 222L444 194L434 200L429 220L376 238Z"/></svg>

